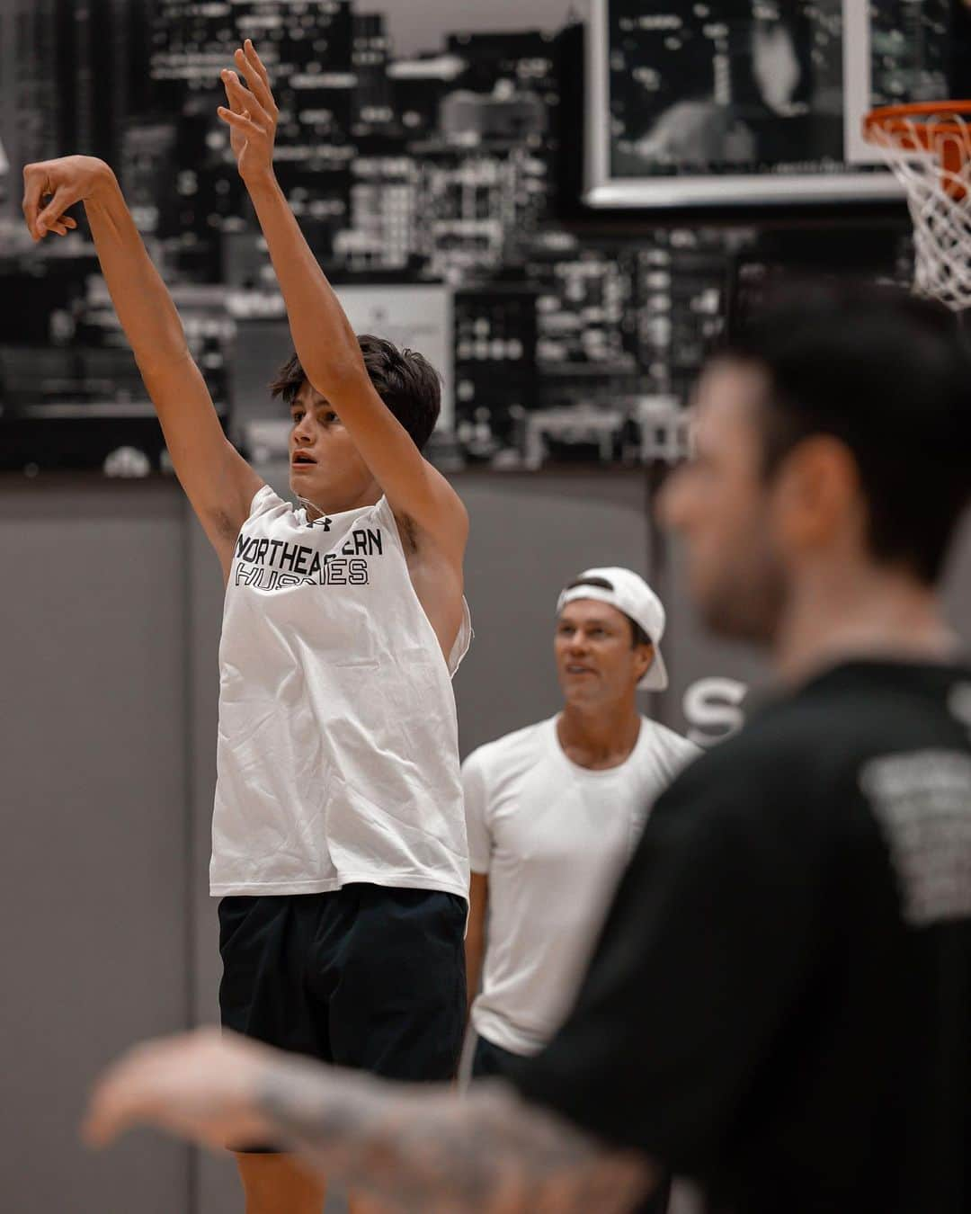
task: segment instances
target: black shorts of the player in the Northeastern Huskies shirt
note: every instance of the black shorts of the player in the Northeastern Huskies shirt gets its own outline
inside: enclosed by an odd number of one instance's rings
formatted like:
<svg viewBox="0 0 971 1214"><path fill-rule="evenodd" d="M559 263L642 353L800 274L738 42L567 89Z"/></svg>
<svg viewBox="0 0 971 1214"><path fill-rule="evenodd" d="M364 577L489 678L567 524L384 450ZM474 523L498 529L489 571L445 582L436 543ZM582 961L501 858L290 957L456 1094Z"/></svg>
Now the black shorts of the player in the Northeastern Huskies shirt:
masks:
<svg viewBox="0 0 971 1214"><path fill-rule="evenodd" d="M393 1079L455 1074L465 1026L466 903L437 890L226 897L222 1023Z"/></svg>

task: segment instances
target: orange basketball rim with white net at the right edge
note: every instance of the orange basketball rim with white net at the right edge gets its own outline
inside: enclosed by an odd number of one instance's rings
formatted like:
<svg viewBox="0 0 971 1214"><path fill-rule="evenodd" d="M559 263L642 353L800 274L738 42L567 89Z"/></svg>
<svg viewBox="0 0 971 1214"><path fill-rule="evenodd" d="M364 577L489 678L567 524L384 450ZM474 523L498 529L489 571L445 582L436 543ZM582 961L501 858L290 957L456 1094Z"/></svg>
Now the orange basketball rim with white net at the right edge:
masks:
<svg viewBox="0 0 971 1214"><path fill-rule="evenodd" d="M971 101L882 106L863 137L907 191L914 285L955 312L971 306Z"/></svg>

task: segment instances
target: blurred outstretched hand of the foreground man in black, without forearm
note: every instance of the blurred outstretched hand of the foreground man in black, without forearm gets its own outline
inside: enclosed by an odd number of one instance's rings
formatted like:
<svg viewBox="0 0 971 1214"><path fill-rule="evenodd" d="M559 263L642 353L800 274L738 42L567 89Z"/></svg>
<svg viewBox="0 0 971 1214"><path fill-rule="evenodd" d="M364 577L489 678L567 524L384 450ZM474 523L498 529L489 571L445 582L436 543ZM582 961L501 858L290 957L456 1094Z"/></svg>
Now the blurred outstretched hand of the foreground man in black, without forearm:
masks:
<svg viewBox="0 0 971 1214"><path fill-rule="evenodd" d="M273 1056L267 1046L217 1028L136 1045L98 1079L84 1138L106 1146L143 1123L212 1147L266 1141L269 1127L255 1101Z"/></svg>

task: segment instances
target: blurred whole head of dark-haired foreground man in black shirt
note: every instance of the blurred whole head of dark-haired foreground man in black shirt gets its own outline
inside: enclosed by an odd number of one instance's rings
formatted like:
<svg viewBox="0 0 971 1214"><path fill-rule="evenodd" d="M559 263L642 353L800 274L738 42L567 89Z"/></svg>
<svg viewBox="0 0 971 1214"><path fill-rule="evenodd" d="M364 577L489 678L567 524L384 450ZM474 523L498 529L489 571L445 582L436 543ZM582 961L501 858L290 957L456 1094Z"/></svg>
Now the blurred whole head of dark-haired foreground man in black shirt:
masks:
<svg viewBox="0 0 971 1214"><path fill-rule="evenodd" d="M712 629L771 642L808 577L936 585L971 495L971 356L942 305L777 293L709 361L694 407L661 514Z"/></svg>

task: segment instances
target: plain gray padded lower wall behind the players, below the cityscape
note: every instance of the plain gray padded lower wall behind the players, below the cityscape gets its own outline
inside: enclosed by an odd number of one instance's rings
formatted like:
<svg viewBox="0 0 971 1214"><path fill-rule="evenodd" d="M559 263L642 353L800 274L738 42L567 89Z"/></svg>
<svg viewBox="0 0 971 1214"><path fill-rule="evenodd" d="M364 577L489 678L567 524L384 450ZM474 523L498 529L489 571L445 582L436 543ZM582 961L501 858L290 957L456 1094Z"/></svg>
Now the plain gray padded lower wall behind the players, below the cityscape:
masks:
<svg viewBox="0 0 971 1214"><path fill-rule="evenodd" d="M652 535L643 472L455 481L477 634L456 677L464 751L556 710L556 594L587 565L649 573L668 605L672 687L646 703L661 720L686 727L698 679L763 679L757 656L698 628L678 554ZM49 477L0 478L0 1206L238 1214L228 1158L151 1133L91 1155L76 1138L106 1061L217 1015L218 567L175 482ZM948 599L971 642L971 523Z"/></svg>

